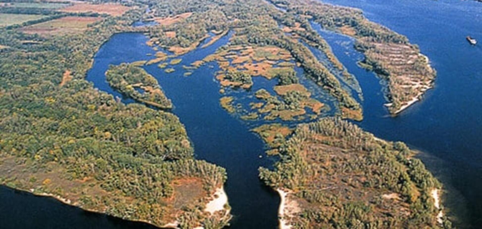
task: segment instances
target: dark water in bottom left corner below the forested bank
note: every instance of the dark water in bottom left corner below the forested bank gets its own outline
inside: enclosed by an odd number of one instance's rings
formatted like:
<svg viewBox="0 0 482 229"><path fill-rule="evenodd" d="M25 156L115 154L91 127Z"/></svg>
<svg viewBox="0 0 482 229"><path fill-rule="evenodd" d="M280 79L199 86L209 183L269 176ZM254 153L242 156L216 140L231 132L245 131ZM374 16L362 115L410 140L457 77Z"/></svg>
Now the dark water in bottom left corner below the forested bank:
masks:
<svg viewBox="0 0 482 229"><path fill-rule="evenodd" d="M141 222L84 211L51 197L0 186L2 229L156 229Z"/></svg>

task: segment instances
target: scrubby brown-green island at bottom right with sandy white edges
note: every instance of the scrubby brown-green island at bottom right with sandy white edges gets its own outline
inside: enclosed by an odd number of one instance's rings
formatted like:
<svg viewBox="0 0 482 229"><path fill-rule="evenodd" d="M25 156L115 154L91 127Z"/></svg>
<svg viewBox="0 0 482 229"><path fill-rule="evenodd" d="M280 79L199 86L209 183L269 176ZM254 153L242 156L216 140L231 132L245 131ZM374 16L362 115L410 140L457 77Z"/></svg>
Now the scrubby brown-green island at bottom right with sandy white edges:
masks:
<svg viewBox="0 0 482 229"><path fill-rule="evenodd" d="M437 222L431 192L440 183L402 142L339 118L300 124L287 140L277 129L257 132L276 136L268 143L280 161L259 176L289 193L295 210L283 217L293 228L452 227L446 217Z"/></svg>

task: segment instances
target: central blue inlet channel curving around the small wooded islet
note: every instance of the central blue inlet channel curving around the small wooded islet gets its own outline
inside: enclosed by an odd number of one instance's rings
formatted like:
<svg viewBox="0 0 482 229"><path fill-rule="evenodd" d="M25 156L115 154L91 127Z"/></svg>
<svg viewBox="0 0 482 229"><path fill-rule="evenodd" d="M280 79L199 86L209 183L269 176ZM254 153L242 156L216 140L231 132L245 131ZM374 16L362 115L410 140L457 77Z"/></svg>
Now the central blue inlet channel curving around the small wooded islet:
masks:
<svg viewBox="0 0 482 229"><path fill-rule="evenodd" d="M219 70L217 64L208 63L189 70L192 75L183 76L186 72L183 65L188 66L213 54L218 47L228 42L230 35L231 33L206 48L198 48L176 57L182 61L168 66L175 69L173 73L165 73L157 64L144 68L159 81L166 96L172 100L172 112L186 126L196 158L227 169L228 182L225 189L234 216L231 228L275 228L279 197L261 183L257 172L258 167L269 167L273 161L266 157L259 158L265 150L261 139L250 132L248 125L219 106L219 98L223 95L219 94L219 83L214 79L215 72ZM119 96L108 86L103 72L111 64L152 58L146 56L146 53L153 53L145 44L146 41L142 34L124 33L113 36L95 56L87 80L94 82L94 87L99 90ZM169 61L170 59L166 60ZM130 100L124 98L122 101ZM264 220L253 220L259 217Z"/></svg>

